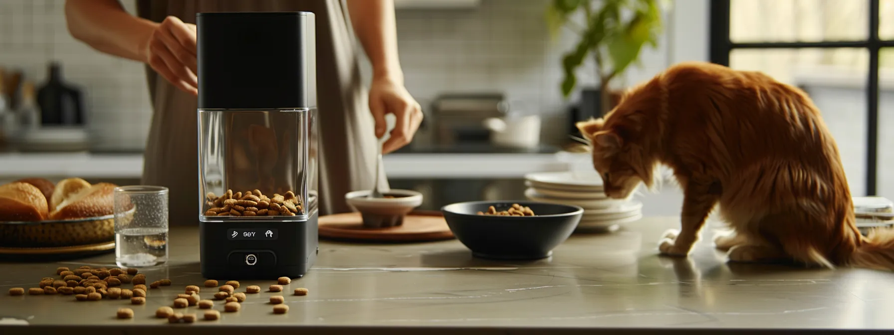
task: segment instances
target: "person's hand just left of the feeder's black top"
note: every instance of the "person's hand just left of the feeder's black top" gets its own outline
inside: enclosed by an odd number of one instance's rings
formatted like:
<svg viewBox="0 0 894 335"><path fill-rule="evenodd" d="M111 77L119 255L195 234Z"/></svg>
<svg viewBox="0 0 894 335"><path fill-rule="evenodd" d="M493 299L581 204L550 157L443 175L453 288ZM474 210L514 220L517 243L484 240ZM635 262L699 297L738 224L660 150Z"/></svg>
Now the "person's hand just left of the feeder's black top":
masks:
<svg viewBox="0 0 894 335"><path fill-rule="evenodd" d="M146 63L173 86L198 96L196 25L168 16L140 49Z"/></svg>

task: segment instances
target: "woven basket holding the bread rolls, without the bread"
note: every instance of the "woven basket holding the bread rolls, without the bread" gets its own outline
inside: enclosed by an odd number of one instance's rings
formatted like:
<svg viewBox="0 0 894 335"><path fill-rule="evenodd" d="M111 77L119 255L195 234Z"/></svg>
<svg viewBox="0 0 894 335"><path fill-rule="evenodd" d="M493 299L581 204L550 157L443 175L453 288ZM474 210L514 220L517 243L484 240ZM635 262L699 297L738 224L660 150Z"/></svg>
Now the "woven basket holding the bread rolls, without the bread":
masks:
<svg viewBox="0 0 894 335"><path fill-rule="evenodd" d="M136 208L120 220L131 221ZM114 240L114 214L84 219L0 222L0 247L71 247Z"/></svg>

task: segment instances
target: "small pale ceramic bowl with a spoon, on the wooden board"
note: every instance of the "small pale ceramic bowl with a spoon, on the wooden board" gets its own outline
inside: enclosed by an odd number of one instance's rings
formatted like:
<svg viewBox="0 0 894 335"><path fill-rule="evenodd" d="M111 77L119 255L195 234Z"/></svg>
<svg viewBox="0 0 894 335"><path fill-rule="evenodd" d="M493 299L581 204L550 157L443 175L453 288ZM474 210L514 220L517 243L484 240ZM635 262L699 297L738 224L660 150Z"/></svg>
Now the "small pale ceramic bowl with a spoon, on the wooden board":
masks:
<svg viewBox="0 0 894 335"><path fill-rule="evenodd" d="M387 197L368 197L371 190L349 192L344 196L351 208L363 216L363 225L368 228L400 226L403 217L422 205L422 193L409 189L391 189Z"/></svg>

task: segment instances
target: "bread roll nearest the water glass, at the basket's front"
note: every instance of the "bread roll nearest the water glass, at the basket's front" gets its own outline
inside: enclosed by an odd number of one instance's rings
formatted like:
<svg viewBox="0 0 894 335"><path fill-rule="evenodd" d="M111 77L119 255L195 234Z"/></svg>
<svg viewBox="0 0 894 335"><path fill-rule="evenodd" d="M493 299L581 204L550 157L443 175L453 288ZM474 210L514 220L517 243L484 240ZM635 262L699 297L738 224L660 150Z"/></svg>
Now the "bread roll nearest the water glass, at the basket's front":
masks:
<svg viewBox="0 0 894 335"><path fill-rule="evenodd" d="M114 214L114 184L101 182L78 193L59 204L49 215L50 220L72 220Z"/></svg>

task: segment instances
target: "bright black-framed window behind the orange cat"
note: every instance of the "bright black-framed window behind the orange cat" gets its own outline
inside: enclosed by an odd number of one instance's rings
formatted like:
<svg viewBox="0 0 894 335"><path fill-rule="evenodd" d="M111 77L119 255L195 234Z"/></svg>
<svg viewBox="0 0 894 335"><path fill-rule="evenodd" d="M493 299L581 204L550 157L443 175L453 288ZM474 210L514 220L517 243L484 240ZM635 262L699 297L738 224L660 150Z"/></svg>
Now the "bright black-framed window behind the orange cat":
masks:
<svg viewBox="0 0 894 335"><path fill-rule="evenodd" d="M803 88L854 196L894 198L894 0L712 0L710 60Z"/></svg>

